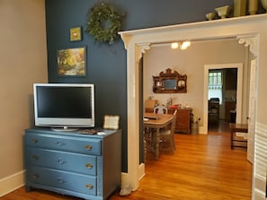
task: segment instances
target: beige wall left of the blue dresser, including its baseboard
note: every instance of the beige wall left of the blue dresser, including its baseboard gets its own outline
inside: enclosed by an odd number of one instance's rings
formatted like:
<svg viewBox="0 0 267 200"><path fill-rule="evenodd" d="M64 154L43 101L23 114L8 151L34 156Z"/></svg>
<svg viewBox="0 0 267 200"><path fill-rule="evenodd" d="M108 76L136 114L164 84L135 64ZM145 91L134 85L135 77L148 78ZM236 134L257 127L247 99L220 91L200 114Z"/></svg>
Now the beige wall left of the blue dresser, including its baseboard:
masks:
<svg viewBox="0 0 267 200"><path fill-rule="evenodd" d="M0 1L0 196L23 184L32 83L46 83L45 0Z"/></svg>

